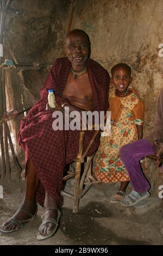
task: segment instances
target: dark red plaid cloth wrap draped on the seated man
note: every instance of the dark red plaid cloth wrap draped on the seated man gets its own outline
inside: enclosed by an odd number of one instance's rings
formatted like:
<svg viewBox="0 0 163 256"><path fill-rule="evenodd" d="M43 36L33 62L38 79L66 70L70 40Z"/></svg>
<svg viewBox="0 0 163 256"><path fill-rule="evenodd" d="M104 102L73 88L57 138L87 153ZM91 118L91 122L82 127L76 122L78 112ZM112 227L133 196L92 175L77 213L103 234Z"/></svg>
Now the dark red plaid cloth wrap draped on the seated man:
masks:
<svg viewBox="0 0 163 256"><path fill-rule="evenodd" d="M97 62L87 59L87 74L93 92L91 111L106 111L108 109L109 74ZM40 179L37 191L37 202L43 206L45 190L60 205L60 192L65 164L73 162L78 153L79 131L54 131L52 112L46 111L48 89L55 90L56 100L62 104L69 102L62 98L66 86L71 63L68 58L55 60L43 89L41 100L30 109L27 118L21 121L18 142L26 151L26 162L30 158ZM86 131L84 150L89 145L94 131ZM87 156L91 156L99 145L99 136L93 143Z"/></svg>

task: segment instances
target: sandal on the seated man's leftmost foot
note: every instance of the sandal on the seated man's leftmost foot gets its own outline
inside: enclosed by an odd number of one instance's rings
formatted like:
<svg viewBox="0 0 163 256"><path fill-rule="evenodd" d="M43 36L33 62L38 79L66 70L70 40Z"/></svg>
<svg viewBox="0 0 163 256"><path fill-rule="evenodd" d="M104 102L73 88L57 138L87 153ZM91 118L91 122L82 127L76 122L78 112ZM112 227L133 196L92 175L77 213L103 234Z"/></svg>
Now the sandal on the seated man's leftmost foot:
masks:
<svg viewBox="0 0 163 256"><path fill-rule="evenodd" d="M15 218L9 218L8 221L10 221L11 223L14 223L17 225L17 227L15 229L12 229L12 230L5 230L3 228L0 229L0 233L12 233L14 231L17 231L21 228L24 228L30 221L32 221L33 219L35 220L36 216L37 216L37 205L36 205L36 211L35 211L35 214L32 215L30 214L28 211L25 211L24 209L22 208L19 208L17 211L23 211L23 212L26 212L26 214L28 214L29 216L31 216L31 218L28 218L27 220L23 220L23 221L18 221L16 220Z"/></svg>

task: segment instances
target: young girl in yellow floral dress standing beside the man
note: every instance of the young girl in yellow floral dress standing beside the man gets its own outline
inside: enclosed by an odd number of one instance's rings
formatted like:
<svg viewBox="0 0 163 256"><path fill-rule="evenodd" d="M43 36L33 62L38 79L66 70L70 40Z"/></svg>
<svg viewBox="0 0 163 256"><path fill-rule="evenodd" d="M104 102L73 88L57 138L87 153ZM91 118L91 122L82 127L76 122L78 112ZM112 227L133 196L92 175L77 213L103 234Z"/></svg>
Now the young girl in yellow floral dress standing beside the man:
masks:
<svg viewBox="0 0 163 256"><path fill-rule="evenodd" d="M129 183L127 169L120 159L122 145L142 139L144 105L136 91L129 86L132 81L131 68L119 63L111 69L114 88L109 91L111 111L111 134L101 137L97 151L95 175L98 181L120 182L121 186L111 203L120 202Z"/></svg>

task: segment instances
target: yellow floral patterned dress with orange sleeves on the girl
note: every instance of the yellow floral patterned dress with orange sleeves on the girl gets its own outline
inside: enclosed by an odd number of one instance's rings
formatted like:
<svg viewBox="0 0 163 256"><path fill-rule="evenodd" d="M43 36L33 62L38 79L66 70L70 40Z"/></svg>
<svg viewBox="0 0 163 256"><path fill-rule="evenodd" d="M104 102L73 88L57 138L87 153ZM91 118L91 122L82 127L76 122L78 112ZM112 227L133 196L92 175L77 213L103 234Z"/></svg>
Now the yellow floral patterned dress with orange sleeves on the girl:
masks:
<svg viewBox="0 0 163 256"><path fill-rule="evenodd" d="M144 105L134 88L131 94L116 96L115 88L109 91L109 110L111 111L111 134L101 137L96 153L95 175L105 183L128 181L129 175L123 165L119 149L122 145L137 140L136 125L143 125Z"/></svg>

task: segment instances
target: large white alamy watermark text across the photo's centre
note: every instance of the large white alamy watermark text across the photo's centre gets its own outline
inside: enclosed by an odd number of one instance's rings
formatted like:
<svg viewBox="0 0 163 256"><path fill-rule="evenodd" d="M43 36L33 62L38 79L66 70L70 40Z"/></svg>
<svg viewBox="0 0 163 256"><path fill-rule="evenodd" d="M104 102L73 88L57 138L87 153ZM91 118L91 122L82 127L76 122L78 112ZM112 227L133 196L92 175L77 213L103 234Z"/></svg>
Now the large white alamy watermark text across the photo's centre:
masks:
<svg viewBox="0 0 163 256"><path fill-rule="evenodd" d="M106 113L106 121L105 121ZM101 136L109 136L111 132L111 114L110 111L71 111L69 107L64 108L64 114L61 111L54 111L52 127L54 131L60 130L101 130Z"/></svg>

